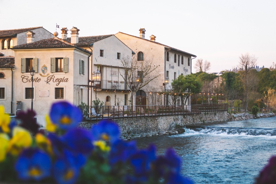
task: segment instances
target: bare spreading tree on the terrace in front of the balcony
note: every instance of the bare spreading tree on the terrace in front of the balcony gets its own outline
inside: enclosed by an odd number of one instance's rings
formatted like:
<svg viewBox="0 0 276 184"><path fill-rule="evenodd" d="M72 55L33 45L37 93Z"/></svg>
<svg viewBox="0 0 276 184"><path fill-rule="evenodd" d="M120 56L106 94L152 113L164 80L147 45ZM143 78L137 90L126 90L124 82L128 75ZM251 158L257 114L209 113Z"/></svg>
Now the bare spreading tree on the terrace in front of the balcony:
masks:
<svg viewBox="0 0 276 184"><path fill-rule="evenodd" d="M131 91L131 105L135 109L136 92L160 76L158 70L156 70L159 66L154 65L150 60L146 60L145 57L143 61L137 61L135 55L132 57L122 56L121 63L124 72L119 70L120 75Z"/></svg>

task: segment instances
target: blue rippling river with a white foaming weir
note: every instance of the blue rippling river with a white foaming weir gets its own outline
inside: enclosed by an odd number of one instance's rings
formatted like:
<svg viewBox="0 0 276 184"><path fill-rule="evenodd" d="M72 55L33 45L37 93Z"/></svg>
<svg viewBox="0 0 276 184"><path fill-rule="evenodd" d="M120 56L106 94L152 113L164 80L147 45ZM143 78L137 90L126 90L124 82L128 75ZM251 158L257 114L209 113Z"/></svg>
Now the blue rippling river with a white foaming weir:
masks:
<svg viewBox="0 0 276 184"><path fill-rule="evenodd" d="M140 148L156 144L158 154L174 148L194 183L254 183L276 155L276 117L187 126L183 134L136 141Z"/></svg>

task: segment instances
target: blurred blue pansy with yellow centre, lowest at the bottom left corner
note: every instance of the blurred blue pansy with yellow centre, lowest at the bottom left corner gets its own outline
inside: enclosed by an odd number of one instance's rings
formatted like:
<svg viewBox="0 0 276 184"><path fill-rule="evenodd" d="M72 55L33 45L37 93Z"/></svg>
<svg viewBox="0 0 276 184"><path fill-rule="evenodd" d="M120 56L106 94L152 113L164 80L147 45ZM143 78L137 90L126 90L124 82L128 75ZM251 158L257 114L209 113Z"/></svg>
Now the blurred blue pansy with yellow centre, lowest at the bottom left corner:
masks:
<svg viewBox="0 0 276 184"><path fill-rule="evenodd" d="M20 179L39 181L50 176L51 159L40 150L27 149L20 154L15 169Z"/></svg>

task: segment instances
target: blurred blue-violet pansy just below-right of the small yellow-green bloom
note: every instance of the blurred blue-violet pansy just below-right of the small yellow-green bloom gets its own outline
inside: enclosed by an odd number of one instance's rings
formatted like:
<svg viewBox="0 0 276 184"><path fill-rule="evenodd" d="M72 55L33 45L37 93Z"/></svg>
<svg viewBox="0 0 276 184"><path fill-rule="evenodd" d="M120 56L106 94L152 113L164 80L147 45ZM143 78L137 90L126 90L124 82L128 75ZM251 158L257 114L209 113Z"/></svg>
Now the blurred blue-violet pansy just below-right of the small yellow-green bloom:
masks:
<svg viewBox="0 0 276 184"><path fill-rule="evenodd" d="M110 150L109 162L114 165L118 162L125 163L137 150L135 141L116 141Z"/></svg>

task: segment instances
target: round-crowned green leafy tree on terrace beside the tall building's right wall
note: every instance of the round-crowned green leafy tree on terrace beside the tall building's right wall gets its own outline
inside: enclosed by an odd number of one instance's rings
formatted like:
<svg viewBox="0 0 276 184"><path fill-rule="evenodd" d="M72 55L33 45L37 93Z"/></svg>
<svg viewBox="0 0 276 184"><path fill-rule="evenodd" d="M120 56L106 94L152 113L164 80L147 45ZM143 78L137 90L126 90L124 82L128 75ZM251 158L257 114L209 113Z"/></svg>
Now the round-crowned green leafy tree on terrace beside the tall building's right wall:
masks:
<svg viewBox="0 0 276 184"><path fill-rule="evenodd" d="M173 80L171 87L174 93L181 97L181 104L186 104L191 93L199 93L202 87L200 81L195 75L179 75L178 78ZM184 95L183 95L184 94Z"/></svg>

